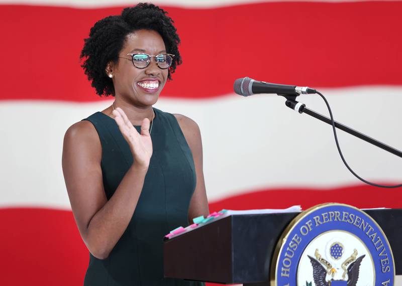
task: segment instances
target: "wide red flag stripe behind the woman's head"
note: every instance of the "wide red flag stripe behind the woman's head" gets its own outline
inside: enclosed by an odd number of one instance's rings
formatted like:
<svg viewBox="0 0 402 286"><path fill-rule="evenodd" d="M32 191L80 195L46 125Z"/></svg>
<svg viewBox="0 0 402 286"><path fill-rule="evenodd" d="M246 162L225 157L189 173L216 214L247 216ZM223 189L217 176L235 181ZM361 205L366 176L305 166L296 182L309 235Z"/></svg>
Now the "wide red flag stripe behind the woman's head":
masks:
<svg viewBox="0 0 402 286"><path fill-rule="evenodd" d="M78 56L94 22L121 8L0 7L0 99L98 100ZM402 2L166 10L183 65L163 96L220 96L243 76L312 87L402 84Z"/></svg>

